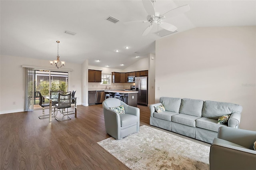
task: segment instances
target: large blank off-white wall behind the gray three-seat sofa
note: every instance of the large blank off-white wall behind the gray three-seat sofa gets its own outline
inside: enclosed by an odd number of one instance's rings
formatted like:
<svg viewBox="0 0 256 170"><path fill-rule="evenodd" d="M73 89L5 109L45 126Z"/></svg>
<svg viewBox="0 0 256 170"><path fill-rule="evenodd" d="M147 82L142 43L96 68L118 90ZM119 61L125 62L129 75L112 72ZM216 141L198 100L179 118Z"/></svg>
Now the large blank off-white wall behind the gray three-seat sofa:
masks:
<svg viewBox="0 0 256 170"><path fill-rule="evenodd" d="M157 40L156 102L162 96L240 104L240 128L256 130L256 27L194 28Z"/></svg>

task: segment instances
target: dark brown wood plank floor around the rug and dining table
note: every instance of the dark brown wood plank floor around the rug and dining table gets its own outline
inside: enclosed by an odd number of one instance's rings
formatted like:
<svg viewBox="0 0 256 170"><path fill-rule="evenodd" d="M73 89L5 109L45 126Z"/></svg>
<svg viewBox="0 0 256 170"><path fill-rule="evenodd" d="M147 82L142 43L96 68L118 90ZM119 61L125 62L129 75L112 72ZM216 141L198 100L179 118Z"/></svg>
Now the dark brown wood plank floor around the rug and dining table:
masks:
<svg viewBox="0 0 256 170"><path fill-rule="evenodd" d="M138 107L141 125L149 125L149 108ZM38 119L42 110L0 115L0 169L128 170L96 143L110 137L102 105L77 108L77 118L52 123Z"/></svg>

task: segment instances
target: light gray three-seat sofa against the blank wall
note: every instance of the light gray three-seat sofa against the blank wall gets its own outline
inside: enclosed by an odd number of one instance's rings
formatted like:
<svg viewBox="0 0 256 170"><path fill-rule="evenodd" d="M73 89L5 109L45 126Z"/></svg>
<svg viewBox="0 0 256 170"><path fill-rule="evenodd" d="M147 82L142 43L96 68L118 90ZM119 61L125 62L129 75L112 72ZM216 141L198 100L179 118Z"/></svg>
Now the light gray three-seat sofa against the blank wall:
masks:
<svg viewBox="0 0 256 170"><path fill-rule="evenodd" d="M161 104L166 111L157 113L154 106ZM219 127L239 127L241 112L242 106L232 103L160 97L150 105L150 125L212 144ZM217 124L223 115L230 115L228 124Z"/></svg>

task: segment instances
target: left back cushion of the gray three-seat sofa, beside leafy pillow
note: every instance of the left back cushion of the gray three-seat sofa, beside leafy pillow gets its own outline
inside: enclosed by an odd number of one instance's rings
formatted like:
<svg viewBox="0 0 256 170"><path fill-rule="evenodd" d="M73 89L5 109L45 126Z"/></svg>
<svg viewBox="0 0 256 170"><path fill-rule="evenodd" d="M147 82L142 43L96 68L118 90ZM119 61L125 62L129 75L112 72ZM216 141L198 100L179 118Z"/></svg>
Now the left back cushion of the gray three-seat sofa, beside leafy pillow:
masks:
<svg viewBox="0 0 256 170"><path fill-rule="evenodd" d="M164 105L166 111L179 113L181 98L160 97L160 103Z"/></svg>

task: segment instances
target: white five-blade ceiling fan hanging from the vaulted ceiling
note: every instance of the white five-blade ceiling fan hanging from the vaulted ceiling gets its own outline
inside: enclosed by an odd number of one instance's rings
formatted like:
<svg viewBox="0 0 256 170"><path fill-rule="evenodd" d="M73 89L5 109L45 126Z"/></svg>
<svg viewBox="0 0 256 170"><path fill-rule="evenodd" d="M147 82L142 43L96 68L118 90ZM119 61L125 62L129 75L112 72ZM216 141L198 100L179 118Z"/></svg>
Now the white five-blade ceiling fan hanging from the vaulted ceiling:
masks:
<svg viewBox="0 0 256 170"><path fill-rule="evenodd" d="M169 24L167 22L162 22L162 20L168 19L173 16L177 16L179 14L182 14L184 12L187 12L190 10L189 5L180 6L177 8L174 8L164 14L161 14L160 12L155 12L155 2L156 0L142 0L143 6L148 13L147 20L146 21L131 21L131 22L148 22L150 25L144 30L142 33L142 36L146 36L154 25L160 26L164 28L165 30L174 32L177 30L177 27ZM126 22L128 24L130 22Z"/></svg>

